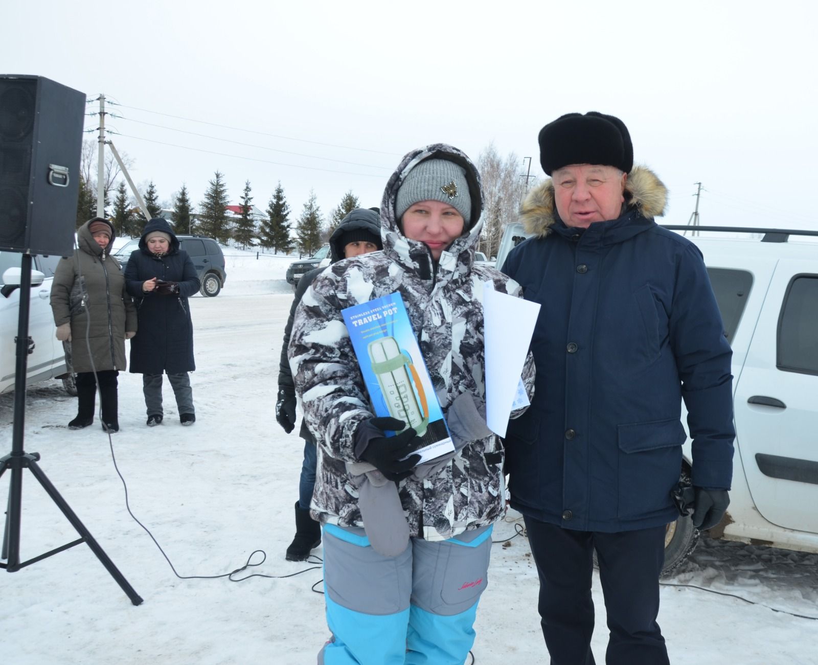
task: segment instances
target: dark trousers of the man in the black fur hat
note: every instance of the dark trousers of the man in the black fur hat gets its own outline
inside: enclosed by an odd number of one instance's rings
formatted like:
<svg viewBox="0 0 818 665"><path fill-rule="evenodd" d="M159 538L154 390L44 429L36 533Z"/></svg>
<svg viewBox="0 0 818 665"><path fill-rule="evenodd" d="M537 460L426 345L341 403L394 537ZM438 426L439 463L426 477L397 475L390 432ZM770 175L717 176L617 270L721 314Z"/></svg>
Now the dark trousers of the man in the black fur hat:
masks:
<svg viewBox="0 0 818 665"><path fill-rule="evenodd" d="M591 654L593 551L610 631L608 665L668 665L659 610L665 528L572 531L525 518L540 577L539 612L551 665L595 665Z"/></svg>

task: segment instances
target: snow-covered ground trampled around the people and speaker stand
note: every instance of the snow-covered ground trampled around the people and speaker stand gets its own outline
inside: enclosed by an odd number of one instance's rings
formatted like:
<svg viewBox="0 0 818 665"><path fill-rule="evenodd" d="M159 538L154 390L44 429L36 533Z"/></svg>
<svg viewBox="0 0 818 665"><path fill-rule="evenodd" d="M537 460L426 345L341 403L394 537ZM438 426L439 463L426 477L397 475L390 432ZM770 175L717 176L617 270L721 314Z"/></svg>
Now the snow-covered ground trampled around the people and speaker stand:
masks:
<svg viewBox="0 0 818 665"><path fill-rule="evenodd" d="M179 425L166 384L165 422L145 426L140 375L119 376L112 438L133 514L182 576L229 573L251 552L267 559L244 582L179 579L128 514L106 435L65 424L76 402L57 381L29 390L25 449L97 538L144 603L134 607L88 546L17 573L0 571L0 663L315 663L329 635L320 564L284 560L294 532L302 446L276 424L281 335L292 302L284 281L293 258L226 249L227 284L191 299L196 425ZM11 394L0 396L0 454L11 450ZM0 479L6 497L8 473ZM488 591L474 643L476 665L546 663L537 617L537 572L522 523L498 523ZM23 560L73 541L70 523L29 472L23 477ZM508 541L504 539L510 538ZM321 550L316 550L321 555ZM254 562L260 560L254 557ZM316 559L317 560L317 559ZM818 555L704 540L673 584L663 586L659 623L674 665L818 663ZM285 577L290 576L293 577ZM605 605L595 576L593 649L605 662Z"/></svg>

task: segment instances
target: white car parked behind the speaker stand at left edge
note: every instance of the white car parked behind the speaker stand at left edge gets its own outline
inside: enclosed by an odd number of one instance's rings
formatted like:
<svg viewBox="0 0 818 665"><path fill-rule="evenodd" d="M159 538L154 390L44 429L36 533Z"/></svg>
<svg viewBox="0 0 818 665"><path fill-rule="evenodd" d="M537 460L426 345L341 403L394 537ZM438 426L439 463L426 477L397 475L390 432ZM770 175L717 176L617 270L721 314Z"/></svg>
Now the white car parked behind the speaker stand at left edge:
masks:
<svg viewBox="0 0 818 665"><path fill-rule="evenodd" d="M0 252L0 393L14 390L21 260L22 254ZM75 395L74 376L66 366L63 344L56 339L50 303L54 270L59 260L59 256L35 256L32 262L29 337L34 348L26 361L26 384L61 379L65 389Z"/></svg>

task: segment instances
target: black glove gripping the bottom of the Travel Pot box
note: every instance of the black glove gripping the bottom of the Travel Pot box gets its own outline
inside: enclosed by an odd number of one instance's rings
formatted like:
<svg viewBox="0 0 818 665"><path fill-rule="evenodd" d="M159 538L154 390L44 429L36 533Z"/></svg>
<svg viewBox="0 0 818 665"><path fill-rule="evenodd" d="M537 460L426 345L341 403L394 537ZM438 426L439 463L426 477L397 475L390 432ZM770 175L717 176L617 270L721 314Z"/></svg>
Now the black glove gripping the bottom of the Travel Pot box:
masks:
<svg viewBox="0 0 818 665"><path fill-rule="evenodd" d="M420 461L420 455L411 454L420 446L420 437L414 429L410 427L393 437L384 434L384 429L400 432L404 427L406 423L403 420L387 417L364 420L355 430L355 449L360 451L358 456L384 474L384 478L396 483L411 476Z"/></svg>

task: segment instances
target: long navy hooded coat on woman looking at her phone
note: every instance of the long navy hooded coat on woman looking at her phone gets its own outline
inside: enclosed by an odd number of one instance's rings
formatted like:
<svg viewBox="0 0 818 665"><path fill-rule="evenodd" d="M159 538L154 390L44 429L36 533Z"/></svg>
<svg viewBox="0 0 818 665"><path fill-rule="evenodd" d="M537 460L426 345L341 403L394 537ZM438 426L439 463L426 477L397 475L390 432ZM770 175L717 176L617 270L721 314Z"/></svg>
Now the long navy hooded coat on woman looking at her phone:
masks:
<svg viewBox="0 0 818 665"><path fill-rule="evenodd" d="M153 231L170 236L168 254L151 254L145 238ZM142 284L158 277L175 281L179 293L162 295L145 293ZM179 240L168 222L153 218L145 225L139 249L134 249L125 267L128 293L137 303L137 316L142 337L131 340L130 371L137 374L182 374L196 370L193 357L193 322L187 299L196 294L200 282L191 258L179 249Z"/></svg>

